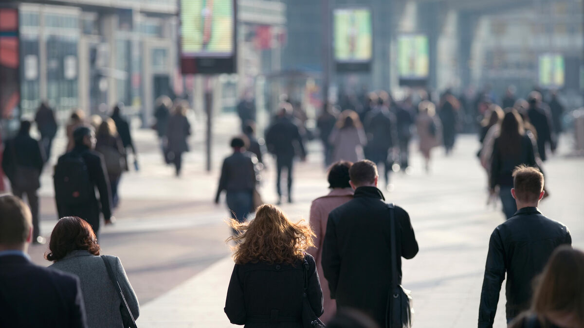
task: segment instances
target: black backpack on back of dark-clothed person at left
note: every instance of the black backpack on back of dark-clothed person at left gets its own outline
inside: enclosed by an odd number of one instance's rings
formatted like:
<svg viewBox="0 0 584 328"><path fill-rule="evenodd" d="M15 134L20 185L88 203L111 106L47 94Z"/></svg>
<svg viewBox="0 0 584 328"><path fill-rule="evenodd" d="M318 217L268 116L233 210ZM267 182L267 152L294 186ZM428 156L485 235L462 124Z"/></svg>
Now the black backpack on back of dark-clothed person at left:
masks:
<svg viewBox="0 0 584 328"><path fill-rule="evenodd" d="M58 204L81 205L95 197L89 170L81 155L63 155L55 166L55 200Z"/></svg>

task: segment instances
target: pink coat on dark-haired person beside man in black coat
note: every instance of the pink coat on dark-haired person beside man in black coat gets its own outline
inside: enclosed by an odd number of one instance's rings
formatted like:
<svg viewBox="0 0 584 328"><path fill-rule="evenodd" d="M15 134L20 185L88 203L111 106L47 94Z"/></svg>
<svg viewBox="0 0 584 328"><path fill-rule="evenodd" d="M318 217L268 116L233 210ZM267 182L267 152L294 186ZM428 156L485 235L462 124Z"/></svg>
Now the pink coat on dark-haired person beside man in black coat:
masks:
<svg viewBox="0 0 584 328"><path fill-rule="evenodd" d="M320 317L322 322L325 324L331 320L336 312L336 302L331 299L331 291L328 287L328 281L326 281L324 273L322 272L322 242L325 239L326 233L326 222L328 220L329 213L335 208L347 203L353 199L353 190L350 188L335 188L331 192L323 197L319 197L312 201L310 207L310 225L312 230L317 235L314 239L314 245L308 249L308 253L314 257L317 262L317 273L321 281L322 296L324 298L324 308L325 312Z"/></svg>

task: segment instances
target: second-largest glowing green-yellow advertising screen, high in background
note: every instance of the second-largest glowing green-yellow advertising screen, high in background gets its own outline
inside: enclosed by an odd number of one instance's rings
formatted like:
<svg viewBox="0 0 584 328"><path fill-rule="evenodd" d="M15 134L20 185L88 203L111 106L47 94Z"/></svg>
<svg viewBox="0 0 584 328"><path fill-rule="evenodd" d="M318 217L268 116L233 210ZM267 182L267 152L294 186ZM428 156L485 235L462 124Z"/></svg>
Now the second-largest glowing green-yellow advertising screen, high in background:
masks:
<svg viewBox="0 0 584 328"><path fill-rule="evenodd" d="M340 70L369 69L373 55L371 11L366 8L335 9L333 22L334 55Z"/></svg>

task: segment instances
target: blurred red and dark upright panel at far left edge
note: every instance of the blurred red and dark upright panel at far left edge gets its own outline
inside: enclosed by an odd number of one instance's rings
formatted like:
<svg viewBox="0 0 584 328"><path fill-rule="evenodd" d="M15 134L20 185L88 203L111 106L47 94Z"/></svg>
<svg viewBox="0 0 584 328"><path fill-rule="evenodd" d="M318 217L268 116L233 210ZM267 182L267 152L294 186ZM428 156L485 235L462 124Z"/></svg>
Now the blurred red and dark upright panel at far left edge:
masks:
<svg viewBox="0 0 584 328"><path fill-rule="evenodd" d="M19 68L18 10L0 8L0 114L2 118L11 118L13 114L18 114Z"/></svg>

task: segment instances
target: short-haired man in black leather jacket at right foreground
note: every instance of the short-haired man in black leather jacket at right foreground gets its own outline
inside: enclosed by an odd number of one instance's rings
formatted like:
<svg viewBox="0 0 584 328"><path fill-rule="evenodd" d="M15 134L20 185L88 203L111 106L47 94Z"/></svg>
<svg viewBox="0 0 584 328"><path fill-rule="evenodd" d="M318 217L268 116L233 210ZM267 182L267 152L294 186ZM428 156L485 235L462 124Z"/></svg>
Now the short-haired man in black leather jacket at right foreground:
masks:
<svg viewBox="0 0 584 328"><path fill-rule="evenodd" d="M479 328L493 326L505 273L508 323L529 309L531 281L541 273L554 249L572 244L565 225L544 217L537 210L544 196L543 188L544 176L538 169L522 165L513 172L511 193L519 210L491 235L482 282Z"/></svg>

